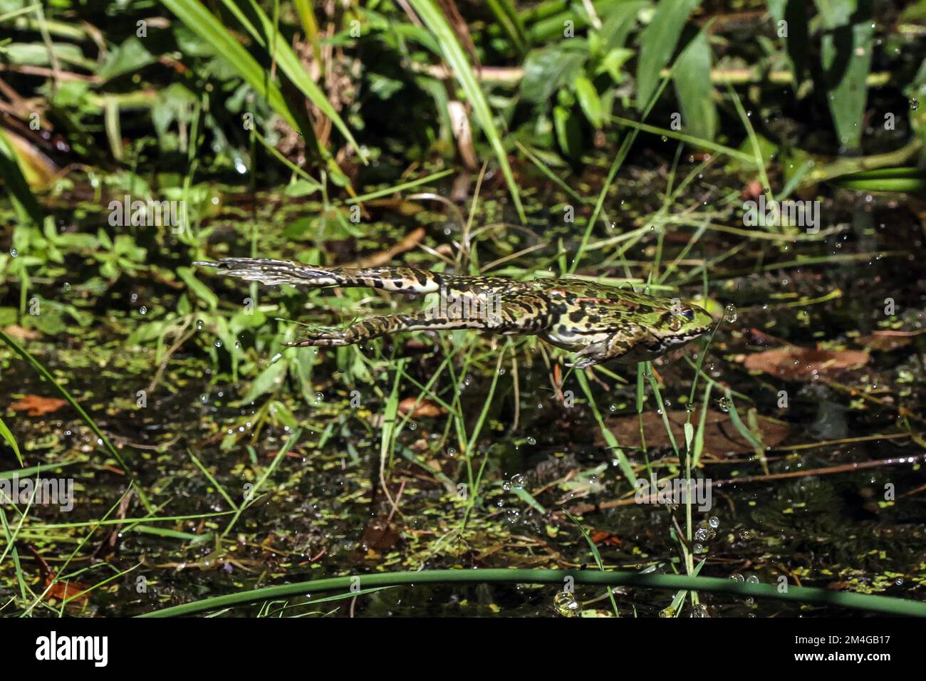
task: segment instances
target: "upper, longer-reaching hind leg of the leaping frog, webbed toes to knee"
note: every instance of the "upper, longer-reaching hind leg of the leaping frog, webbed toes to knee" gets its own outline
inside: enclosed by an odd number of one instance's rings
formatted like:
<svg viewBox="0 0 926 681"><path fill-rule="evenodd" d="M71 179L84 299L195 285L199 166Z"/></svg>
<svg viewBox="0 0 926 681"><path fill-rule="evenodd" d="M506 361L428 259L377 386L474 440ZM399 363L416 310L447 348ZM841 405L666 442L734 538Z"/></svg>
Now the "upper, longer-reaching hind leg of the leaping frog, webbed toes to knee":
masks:
<svg viewBox="0 0 926 681"><path fill-rule="evenodd" d="M410 267L357 270L259 258L224 258L219 262L194 262L194 265L215 268L218 274L238 277L248 282L271 285L292 284L312 288L366 286L406 294L433 293L443 285L439 274Z"/></svg>

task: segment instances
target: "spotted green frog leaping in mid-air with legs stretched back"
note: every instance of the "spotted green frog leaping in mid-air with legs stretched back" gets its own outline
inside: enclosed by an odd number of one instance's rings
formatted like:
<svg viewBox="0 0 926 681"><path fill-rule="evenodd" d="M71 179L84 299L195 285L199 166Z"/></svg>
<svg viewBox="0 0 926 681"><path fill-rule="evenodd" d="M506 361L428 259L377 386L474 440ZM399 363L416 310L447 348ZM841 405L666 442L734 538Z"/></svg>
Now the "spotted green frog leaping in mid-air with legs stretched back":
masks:
<svg viewBox="0 0 926 681"><path fill-rule="evenodd" d="M400 294L438 294L438 302L417 314L371 317L339 331L312 334L292 345L349 346L406 331L480 329L494 334L537 335L575 352L578 369L615 359L655 359L707 333L706 310L679 298L641 293L579 279L517 282L387 267L324 268L286 260L227 258L195 262L219 274L294 286L366 286Z"/></svg>

